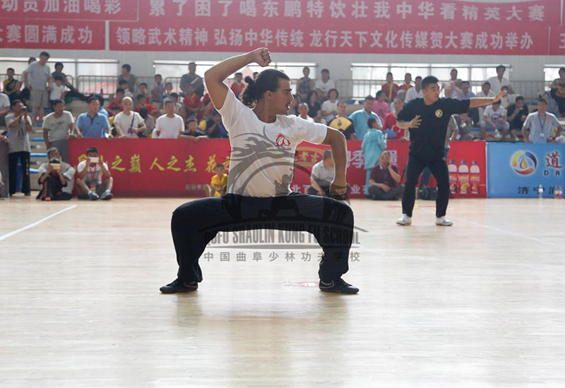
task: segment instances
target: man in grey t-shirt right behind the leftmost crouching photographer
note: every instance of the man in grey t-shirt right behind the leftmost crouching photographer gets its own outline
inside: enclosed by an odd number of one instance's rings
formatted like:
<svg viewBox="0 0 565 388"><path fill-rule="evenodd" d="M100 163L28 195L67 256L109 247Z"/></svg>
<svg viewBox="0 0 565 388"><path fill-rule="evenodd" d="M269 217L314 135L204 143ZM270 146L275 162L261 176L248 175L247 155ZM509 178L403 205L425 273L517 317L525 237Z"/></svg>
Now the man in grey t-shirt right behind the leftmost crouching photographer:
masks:
<svg viewBox="0 0 565 388"><path fill-rule="evenodd" d="M65 104L60 99L53 102L53 112L43 119L43 141L45 148L56 147L61 152L57 159L69 162L69 137L73 134L75 119L70 111L65 110ZM49 158L50 159L50 158Z"/></svg>

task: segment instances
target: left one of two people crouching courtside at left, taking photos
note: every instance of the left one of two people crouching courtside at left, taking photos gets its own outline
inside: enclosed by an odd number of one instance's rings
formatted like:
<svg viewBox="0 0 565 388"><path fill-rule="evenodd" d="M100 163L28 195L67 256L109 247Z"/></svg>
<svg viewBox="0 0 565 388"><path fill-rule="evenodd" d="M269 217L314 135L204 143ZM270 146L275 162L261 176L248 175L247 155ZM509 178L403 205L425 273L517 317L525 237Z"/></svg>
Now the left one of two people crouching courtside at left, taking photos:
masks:
<svg viewBox="0 0 565 388"><path fill-rule="evenodd" d="M48 162L44 162L37 169L40 176L40 193L38 200L61 201L73 198L75 184L75 169L69 163L61 161L61 154L57 147L47 150Z"/></svg>

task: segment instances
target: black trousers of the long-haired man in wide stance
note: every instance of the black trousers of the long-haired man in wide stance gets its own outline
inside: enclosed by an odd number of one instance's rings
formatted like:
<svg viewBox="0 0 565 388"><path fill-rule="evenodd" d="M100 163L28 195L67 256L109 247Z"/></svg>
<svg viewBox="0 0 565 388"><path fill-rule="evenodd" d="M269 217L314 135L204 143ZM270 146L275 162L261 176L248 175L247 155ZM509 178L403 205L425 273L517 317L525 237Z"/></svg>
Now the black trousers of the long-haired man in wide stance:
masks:
<svg viewBox="0 0 565 388"><path fill-rule="evenodd" d="M319 277L338 279L348 269L353 212L344 202L302 193L273 198L226 194L177 207L171 230L179 264L178 277L202 281L198 258L218 231L282 229L307 231L323 250Z"/></svg>

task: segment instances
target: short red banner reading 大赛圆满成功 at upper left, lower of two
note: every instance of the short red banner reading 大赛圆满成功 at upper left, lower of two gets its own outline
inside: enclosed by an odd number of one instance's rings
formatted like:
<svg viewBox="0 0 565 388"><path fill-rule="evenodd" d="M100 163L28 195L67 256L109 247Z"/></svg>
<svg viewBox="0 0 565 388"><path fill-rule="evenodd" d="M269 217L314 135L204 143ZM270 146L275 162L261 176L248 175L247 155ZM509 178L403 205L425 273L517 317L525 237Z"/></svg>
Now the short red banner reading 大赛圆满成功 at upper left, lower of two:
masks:
<svg viewBox="0 0 565 388"><path fill-rule="evenodd" d="M5 15L5 13L3 13ZM102 21L0 19L0 47L20 49L105 48Z"/></svg>

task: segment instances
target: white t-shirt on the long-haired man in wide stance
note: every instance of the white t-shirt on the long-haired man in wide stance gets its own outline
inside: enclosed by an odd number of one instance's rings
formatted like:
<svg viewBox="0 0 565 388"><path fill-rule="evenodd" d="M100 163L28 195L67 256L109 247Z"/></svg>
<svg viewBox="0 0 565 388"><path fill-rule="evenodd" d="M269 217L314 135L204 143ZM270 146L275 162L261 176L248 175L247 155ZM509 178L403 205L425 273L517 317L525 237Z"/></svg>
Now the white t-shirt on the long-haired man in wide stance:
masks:
<svg viewBox="0 0 565 388"><path fill-rule="evenodd" d="M295 151L302 141L321 144L327 128L297 116L278 114L265 123L228 88L222 122L232 146L227 193L274 197L291 193Z"/></svg>

